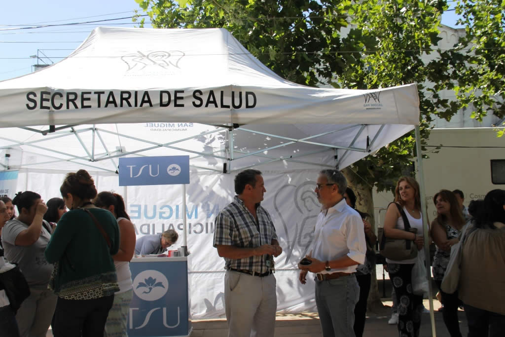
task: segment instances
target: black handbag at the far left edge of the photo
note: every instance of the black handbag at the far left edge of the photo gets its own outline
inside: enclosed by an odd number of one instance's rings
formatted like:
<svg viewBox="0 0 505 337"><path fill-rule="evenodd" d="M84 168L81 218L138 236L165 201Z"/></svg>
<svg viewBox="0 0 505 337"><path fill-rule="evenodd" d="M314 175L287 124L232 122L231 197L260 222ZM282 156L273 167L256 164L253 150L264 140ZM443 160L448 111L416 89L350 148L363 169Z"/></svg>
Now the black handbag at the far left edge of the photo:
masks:
<svg viewBox="0 0 505 337"><path fill-rule="evenodd" d="M30 287L18 265L0 273L0 285L4 287L9 302L11 302L11 309L16 314L21 303L30 296Z"/></svg>

